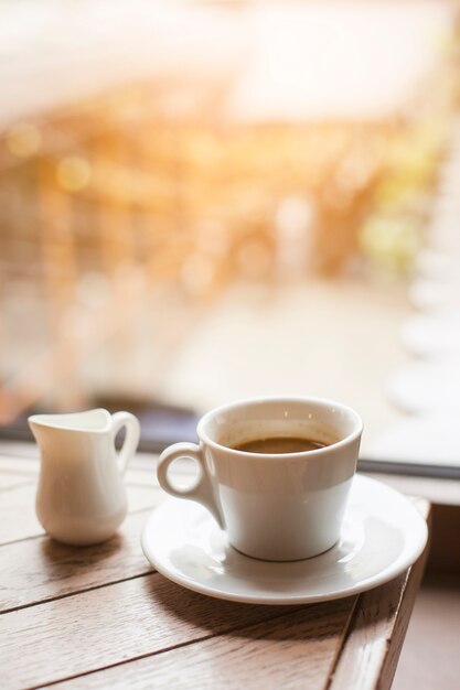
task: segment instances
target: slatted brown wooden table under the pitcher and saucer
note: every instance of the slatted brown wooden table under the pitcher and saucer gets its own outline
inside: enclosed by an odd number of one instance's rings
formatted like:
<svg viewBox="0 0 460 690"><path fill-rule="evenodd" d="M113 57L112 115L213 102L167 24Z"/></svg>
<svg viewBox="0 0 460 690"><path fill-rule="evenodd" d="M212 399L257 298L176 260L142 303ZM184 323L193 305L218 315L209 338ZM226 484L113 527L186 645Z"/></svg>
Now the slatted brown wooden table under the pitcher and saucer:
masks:
<svg viewBox="0 0 460 690"><path fill-rule="evenodd" d="M2 690L391 687L426 554L396 580L330 603L257 606L190 592L153 572L140 548L163 499L154 460L128 470L119 536L78 549L36 521L35 446L0 448ZM428 517L428 503L417 505Z"/></svg>

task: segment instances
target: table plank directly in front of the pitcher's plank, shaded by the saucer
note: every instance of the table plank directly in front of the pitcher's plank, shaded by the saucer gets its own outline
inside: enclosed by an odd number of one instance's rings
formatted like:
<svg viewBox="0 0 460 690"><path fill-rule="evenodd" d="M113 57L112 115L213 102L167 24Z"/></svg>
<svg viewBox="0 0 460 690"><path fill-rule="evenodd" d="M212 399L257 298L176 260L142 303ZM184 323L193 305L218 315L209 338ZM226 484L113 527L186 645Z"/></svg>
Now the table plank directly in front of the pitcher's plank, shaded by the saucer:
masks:
<svg viewBox="0 0 460 690"><path fill-rule="evenodd" d="M328 611L320 610L315 626ZM38 604L0 616L2 690L99 670L288 612L206 597L158 573ZM341 628L328 630L341 635Z"/></svg>

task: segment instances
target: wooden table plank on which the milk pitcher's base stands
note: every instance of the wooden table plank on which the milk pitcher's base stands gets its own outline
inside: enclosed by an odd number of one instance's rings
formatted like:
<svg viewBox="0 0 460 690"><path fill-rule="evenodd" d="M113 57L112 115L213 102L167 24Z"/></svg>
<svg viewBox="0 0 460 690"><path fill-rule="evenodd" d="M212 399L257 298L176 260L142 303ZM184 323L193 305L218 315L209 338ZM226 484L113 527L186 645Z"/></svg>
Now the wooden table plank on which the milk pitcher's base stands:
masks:
<svg viewBox="0 0 460 690"><path fill-rule="evenodd" d="M1 547L0 613L149 573L140 547L149 514L128 516L113 539L94 547L68 547L46 536Z"/></svg>

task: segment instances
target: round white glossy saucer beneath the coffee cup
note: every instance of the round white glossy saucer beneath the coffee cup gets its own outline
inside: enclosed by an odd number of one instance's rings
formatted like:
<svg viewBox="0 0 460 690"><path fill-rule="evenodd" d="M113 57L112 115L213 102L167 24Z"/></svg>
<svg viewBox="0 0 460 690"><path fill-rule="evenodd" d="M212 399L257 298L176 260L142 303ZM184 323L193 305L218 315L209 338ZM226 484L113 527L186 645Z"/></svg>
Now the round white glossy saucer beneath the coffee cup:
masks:
<svg viewBox="0 0 460 690"><path fill-rule="evenodd" d="M341 599L404 572L424 550L427 525L394 489L356 476L340 541L303 561L272 563L228 545L199 504L171 498L150 516L142 549L165 578L193 590L252 604L301 604Z"/></svg>

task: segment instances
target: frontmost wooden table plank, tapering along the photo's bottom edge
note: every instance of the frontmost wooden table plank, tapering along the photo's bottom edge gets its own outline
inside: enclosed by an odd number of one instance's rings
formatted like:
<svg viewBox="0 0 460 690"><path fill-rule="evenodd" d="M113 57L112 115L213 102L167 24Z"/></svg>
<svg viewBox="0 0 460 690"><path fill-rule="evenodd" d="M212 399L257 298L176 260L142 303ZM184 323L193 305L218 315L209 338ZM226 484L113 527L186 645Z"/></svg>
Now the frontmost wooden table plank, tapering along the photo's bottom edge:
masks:
<svg viewBox="0 0 460 690"><path fill-rule="evenodd" d="M57 683L60 690L323 688L356 597L303 606L204 642Z"/></svg>

